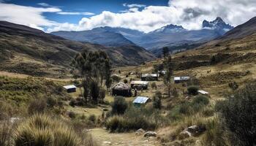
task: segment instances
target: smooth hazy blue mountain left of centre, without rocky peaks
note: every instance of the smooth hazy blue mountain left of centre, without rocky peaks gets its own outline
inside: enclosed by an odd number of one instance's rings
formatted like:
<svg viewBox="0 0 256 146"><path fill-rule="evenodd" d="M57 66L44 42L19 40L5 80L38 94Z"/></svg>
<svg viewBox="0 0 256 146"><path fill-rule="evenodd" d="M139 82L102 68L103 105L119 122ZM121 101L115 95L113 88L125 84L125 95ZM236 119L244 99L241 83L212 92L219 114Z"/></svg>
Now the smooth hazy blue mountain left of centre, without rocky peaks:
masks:
<svg viewBox="0 0 256 146"><path fill-rule="evenodd" d="M125 38L122 34L110 31L109 28L100 27L89 31L56 31L54 34L65 39L79 42L91 42L106 47L120 47L125 45L135 45L132 41Z"/></svg>

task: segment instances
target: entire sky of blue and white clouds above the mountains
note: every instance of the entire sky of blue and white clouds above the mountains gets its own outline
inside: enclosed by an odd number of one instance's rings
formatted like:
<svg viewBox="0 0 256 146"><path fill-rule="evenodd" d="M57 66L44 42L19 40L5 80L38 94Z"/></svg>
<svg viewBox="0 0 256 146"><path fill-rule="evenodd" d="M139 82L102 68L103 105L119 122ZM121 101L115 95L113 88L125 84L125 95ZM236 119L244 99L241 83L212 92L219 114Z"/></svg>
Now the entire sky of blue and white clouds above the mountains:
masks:
<svg viewBox="0 0 256 146"><path fill-rule="evenodd" d="M148 32L170 23L191 30L218 16L237 26L256 16L256 0L0 0L0 20L46 32L99 26Z"/></svg>

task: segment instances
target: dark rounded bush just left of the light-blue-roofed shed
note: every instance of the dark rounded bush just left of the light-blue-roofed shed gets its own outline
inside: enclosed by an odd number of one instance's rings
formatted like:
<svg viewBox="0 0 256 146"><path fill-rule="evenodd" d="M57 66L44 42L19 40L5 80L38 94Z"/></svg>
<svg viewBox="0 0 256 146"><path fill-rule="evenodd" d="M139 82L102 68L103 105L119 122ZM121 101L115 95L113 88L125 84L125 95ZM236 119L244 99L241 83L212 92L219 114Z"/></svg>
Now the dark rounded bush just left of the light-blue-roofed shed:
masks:
<svg viewBox="0 0 256 146"><path fill-rule="evenodd" d="M123 115L125 110L127 110L128 104L123 96L116 96L111 107L112 115Z"/></svg>

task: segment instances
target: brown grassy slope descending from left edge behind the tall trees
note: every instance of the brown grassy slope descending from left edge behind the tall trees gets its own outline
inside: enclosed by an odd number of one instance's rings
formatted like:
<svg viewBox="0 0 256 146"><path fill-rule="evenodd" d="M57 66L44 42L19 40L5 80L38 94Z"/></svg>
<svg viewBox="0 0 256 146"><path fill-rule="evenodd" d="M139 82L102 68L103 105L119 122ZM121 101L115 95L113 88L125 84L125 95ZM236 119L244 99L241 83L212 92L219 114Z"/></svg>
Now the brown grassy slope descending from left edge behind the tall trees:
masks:
<svg viewBox="0 0 256 146"><path fill-rule="evenodd" d="M38 76L67 74L72 58L83 49L105 50L113 66L138 65L154 55L142 47L103 47L46 34L27 26L0 21L0 70Z"/></svg>

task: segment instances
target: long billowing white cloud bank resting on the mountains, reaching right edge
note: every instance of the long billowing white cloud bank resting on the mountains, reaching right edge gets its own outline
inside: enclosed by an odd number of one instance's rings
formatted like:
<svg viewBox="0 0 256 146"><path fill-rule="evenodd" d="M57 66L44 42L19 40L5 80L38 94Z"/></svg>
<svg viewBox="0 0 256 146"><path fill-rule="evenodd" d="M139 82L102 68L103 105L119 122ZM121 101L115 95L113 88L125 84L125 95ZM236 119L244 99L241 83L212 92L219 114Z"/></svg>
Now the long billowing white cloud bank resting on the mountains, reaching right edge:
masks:
<svg viewBox="0 0 256 146"><path fill-rule="evenodd" d="M58 27L49 28L48 31L81 31L99 26L112 26L148 32L170 23L191 30L200 29L203 20L214 20L218 16L233 26L256 16L255 0L170 0L168 6L148 6L140 10L135 4L123 5L130 9L120 13L104 11L90 18L82 18L78 24L65 23L64 27L60 24Z"/></svg>

